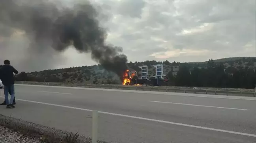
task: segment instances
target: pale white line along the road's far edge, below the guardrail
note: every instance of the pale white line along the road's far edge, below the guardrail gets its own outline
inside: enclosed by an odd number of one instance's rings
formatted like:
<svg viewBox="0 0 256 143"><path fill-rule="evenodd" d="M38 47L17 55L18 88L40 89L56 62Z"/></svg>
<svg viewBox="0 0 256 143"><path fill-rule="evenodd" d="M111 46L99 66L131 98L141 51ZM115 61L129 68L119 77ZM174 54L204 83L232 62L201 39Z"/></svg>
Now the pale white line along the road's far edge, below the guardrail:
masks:
<svg viewBox="0 0 256 143"><path fill-rule="evenodd" d="M241 97L228 96L225 95L209 95L197 94L192 95L188 93L175 93L175 92L153 92L153 91L138 91L138 90L117 90L117 89L104 89L104 88L83 88L83 87L69 87L69 86L45 86L45 85L30 85L30 84L15 84L19 86L36 86L36 87L49 87L49 88L68 88L68 89L82 89L82 90L99 90L99 91L110 91L110 92L129 92L129 93L142 93L142 94L158 94L158 95L171 95L171 96L188 96L188 97L207 97L207 98L217 98L217 99L237 99L237 100L251 100L256 101L255 97ZM255 98L255 99L252 99Z"/></svg>

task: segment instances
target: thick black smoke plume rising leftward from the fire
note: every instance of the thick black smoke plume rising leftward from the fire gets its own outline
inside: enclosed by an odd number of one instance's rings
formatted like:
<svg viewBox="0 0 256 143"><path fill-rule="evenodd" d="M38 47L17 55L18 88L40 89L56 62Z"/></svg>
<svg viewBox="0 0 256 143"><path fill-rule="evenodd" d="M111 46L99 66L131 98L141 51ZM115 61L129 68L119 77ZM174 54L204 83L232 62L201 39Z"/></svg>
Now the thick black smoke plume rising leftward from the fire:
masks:
<svg viewBox="0 0 256 143"><path fill-rule="evenodd" d="M64 51L73 45L81 53L90 52L94 61L122 77L127 57L120 54L122 48L105 44L107 34L99 26L96 9L89 2L72 8L53 2L0 0L0 27L9 27L0 36L8 37L13 29L23 30L30 40L29 50L37 53L49 48Z"/></svg>

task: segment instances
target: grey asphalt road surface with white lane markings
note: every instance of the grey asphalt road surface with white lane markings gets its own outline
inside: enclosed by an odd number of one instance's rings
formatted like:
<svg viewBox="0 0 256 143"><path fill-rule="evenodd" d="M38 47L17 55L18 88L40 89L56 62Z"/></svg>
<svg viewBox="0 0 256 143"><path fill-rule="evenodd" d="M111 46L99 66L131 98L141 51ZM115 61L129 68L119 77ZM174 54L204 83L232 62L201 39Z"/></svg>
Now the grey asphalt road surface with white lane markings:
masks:
<svg viewBox="0 0 256 143"><path fill-rule="evenodd" d="M2 91L1 91L2 92ZM256 143L256 98L58 86L15 86L0 114L113 143ZM4 100L3 92L0 95Z"/></svg>

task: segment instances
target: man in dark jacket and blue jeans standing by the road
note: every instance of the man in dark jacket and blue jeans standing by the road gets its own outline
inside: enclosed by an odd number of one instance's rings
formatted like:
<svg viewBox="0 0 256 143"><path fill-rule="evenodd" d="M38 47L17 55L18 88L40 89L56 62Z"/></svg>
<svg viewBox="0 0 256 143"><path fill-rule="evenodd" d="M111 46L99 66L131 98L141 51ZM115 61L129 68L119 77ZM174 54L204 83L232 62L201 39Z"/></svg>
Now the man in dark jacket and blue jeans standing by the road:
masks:
<svg viewBox="0 0 256 143"><path fill-rule="evenodd" d="M14 93L14 77L13 73L18 74L19 72L10 65L9 60L4 60L4 66L0 68L0 79L4 84L4 99L6 102L6 108L15 108L13 105ZM9 101L8 95L11 92L11 99Z"/></svg>

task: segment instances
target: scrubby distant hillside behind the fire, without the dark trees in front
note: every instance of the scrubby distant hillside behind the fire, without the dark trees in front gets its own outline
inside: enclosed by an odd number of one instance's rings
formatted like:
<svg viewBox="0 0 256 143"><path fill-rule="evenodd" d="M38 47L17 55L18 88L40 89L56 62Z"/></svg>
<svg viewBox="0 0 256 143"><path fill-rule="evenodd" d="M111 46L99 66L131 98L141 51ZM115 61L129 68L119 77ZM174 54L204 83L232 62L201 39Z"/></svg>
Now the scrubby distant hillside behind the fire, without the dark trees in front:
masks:
<svg viewBox="0 0 256 143"><path fill-rule="evenodd" d="M141 74L139 66L147 65L149 67L149 74L155 74L155 68L152 65L164 64L164 73L174 77L177 75L180 66L186 66L189 69L194 67L207 68L206 62L169 62L169 61L145 61L145 62L129 62L128 67L136 70ZM225 69L235 68L256 68L256 57L230 57L224 59L213 60L215 63L221 63ZM40 72L20 73L17 75L18 81L45 81L45 82L69 82L69 83L108 83L108 84L121 84L119 77L112 72L104 70L100 65L94 66L81 66L72 68L62 68L56 70L44 70Z"/></svg>

